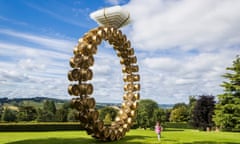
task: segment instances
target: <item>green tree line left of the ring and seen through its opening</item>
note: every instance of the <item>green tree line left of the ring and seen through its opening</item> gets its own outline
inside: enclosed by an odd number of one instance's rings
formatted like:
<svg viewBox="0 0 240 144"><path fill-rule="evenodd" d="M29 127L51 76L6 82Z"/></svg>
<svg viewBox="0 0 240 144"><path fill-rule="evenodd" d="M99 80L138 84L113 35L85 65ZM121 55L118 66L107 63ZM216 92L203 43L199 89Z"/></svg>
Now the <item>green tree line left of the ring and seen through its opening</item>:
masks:
<svg viewBox="0 0 240 144"><path fill-rule="evenodd" d="M99 118L110 124L118 114L117 107L100 107ZM78 122L77 110L71 102L65 102L60 108L56 108L53 100L45 100L42 108L19 105L18 110L0 106L0 120L2 122Z"/></svg>

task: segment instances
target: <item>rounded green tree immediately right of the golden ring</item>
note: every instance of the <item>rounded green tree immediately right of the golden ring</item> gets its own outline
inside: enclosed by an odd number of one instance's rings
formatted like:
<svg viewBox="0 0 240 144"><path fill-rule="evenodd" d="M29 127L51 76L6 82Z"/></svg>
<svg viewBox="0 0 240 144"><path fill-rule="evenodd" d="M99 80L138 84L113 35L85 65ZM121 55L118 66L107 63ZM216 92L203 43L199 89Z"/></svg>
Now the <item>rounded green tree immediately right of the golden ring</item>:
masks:
<svg viewBox="0 0 240 144"><path fill-rule="evenodd" d="M151 99L140 100L137 109L136 122L141 127L152 127L155 125L153 118L154 110L158 109L158 104Z"/></svg>

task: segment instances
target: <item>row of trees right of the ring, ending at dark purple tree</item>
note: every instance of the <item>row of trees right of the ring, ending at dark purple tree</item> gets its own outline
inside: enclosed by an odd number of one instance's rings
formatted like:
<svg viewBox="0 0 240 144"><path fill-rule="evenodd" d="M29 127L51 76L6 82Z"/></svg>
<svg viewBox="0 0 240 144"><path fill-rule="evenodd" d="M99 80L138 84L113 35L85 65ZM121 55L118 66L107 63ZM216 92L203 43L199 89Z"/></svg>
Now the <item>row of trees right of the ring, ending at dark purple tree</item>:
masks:
<svg viewBox="0 0 240 144"><path fill-rule="evenodd" d="M189 104L177 103L171 109L159 108L156 101L141 100L137 110L136 125L141 128L153 128L156 121L184 122L194 128L206 130L214 127L212 121L215 101L214 96L190 96Z"/></svg>

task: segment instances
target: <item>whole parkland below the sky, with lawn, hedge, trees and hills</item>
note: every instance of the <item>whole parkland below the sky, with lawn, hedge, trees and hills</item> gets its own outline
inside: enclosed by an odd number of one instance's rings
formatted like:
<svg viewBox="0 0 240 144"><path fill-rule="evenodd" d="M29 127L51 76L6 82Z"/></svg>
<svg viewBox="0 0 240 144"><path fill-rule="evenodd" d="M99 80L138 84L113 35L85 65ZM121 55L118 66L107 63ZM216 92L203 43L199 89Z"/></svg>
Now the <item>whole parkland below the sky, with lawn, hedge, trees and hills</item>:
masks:
<svg viewBox="0 0 240 144"><path fill-rule="evenodd" d="M114 143L160 143L154 134L156 121L164 127L161 143L239 143L239 56L227 70L231 73L223 76L230 80L221 85L225 92L218 95L217 102L211 95L189 96L188 104L162 108L154 100L140 100L128 136ZM70 101L41 97L0 100L2 143L101 143L83 133ZM107 125L114 121L121 104L97 104L96 108Z"/></svg>

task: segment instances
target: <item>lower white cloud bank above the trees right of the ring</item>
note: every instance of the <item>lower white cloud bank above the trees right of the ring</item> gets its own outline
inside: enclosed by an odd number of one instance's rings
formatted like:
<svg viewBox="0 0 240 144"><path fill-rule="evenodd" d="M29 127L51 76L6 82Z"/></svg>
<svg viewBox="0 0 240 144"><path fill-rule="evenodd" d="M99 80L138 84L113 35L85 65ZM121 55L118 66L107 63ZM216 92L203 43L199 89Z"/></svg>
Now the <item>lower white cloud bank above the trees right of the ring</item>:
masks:
<svg viewBox="0 0 240 144"><path fill-rule="evenodd" d="M142 97L159 103L187 102L190 95L222 92L225 68L237 51L200 53L192 57L146 58L141 61ZM176 99L175 99L176 98Z"/></svg>

